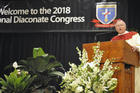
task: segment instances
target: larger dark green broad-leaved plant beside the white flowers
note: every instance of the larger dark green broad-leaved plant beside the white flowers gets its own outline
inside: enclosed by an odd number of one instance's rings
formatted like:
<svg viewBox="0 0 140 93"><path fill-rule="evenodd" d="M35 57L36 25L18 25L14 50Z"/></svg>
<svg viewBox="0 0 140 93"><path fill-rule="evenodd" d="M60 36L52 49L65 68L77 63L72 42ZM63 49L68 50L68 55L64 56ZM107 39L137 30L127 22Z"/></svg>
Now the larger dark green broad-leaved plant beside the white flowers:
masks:
<svg viewBox="0 0 140 93"><path fill-rule="evenodd" d="M33 90L42 90L45 88L55 88L56 83L60 82L64 71L63 66L53 55L47 55L42 48L34 48L33 57L26 60L20 60L20 69L28 71L31 75L37 75L33 81ZM52 82L54 84L52 84Z"/></svg>

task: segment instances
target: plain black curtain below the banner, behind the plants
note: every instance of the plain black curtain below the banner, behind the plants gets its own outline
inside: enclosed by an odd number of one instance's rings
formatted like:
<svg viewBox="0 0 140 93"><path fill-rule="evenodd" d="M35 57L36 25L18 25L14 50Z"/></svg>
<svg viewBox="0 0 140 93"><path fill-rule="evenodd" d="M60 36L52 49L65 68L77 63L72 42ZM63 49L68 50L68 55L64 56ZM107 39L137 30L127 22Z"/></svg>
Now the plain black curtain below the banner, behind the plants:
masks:
<svg viewBox="0 0 140 93"><path fill-rule="evenodd" d="M0 71L14 61L32 57L35 47L43 50L61 62L66 70L69 62L79 64L76 47L82 49L83 43L108 41L114 32L48 32L48 33L1 33L0 34Z"/></svg>

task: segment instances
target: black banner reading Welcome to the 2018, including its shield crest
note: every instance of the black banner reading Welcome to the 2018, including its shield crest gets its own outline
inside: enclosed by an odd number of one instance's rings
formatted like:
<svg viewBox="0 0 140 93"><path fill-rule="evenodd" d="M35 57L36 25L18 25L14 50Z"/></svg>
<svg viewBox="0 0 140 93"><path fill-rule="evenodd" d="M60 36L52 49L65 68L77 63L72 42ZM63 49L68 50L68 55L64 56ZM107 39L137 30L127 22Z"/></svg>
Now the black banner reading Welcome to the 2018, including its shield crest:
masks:
<svg viewBox="0 0 140 93"><path fill-rule="evenodd" d="M0 32L112 31L117 19L127 20L124 1L3 0Z"/></svg>

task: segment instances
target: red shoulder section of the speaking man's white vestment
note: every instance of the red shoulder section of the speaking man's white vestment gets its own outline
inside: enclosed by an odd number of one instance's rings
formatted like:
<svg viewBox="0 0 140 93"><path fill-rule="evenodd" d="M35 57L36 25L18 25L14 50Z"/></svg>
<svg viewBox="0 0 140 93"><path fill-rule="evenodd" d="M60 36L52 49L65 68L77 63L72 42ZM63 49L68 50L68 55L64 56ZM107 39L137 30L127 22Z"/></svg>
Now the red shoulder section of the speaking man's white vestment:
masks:
<svg viewBox="0 0 140 93"><path fill-rule="evenodd" d="M137 32L128 32L126 34L123 34L123 35L117 35L117 36L114 36L111 41L113 40L129 40L132 38L133 35L137 34Z"/></svg>

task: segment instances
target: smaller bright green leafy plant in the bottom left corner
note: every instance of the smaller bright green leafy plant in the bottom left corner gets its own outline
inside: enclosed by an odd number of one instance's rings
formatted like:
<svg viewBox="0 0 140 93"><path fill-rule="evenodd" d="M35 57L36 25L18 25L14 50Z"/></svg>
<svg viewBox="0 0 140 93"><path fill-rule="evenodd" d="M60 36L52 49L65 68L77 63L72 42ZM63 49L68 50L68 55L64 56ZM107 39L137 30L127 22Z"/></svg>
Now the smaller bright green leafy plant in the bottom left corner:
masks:
<svg viewBox="0 0 140 93"><path fill-rule="evenodd" d="M26 71L14 70L10 75L4 75L5 79L0 78L2 93L28 93L35 75L31 77Z"/></svg>

